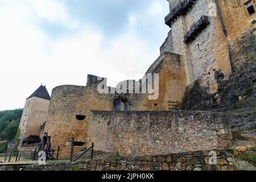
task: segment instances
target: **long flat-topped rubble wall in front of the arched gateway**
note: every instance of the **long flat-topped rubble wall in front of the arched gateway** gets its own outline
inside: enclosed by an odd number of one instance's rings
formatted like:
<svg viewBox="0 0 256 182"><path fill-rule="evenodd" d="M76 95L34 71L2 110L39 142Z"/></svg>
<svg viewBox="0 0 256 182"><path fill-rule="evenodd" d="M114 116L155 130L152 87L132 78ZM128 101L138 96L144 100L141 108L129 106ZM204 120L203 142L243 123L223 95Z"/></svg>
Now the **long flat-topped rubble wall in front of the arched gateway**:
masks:
<svg viewBox="0 0 256 182"><path fill-rule="evenodd" d="M121 155L225 148L232 139L226 117L201 111L92 111L89 141Z"/></svg>

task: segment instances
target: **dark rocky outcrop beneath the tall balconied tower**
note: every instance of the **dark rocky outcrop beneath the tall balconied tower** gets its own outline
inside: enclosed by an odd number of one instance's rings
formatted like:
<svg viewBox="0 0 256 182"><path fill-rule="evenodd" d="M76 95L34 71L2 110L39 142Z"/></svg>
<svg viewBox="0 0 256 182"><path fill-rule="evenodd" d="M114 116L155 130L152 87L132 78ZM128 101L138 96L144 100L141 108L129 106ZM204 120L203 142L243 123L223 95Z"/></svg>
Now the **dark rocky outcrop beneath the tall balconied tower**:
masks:
<svg viewBox="0 0 256 182"><path fill-rule="evenodd" d="M256 66L247 67L240 73L230 75L227 80L221 71L215 72L217 93L210 94L209 88L196 80L189 85L183 98L184 110L237 109L256 106Z"/></svg>

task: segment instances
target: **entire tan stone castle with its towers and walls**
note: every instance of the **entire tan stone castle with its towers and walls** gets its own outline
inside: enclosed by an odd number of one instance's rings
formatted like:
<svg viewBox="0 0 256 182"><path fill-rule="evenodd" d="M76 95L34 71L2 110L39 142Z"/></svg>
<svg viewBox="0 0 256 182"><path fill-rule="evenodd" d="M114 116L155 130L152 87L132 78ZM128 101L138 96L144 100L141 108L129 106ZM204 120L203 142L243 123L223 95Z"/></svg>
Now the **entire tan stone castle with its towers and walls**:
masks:
<svg viewBox="0 0 256 182"><path fill-rule="evenodd" d="M139 83L139 93L134 89L133 93L99 93L98 85L106 84L106 78L93 75L88 75L86 86L57 86L51 98L40 86L24 107L21 147L38 142L43 132L51 136L53 147L61 147L63 158L69 156L71 137L76 152L93 142L96 150L121 155L230 146L232 134L225 114L176 109L195 81L214 94L219 89L216 72L228 80L255 65L256 2L169 0L169 5L165 21L171 30L160 56L146 72L159 74L156 100L148 100L151 93L141 92L143 79L121 82L135 88Z"/></svg>

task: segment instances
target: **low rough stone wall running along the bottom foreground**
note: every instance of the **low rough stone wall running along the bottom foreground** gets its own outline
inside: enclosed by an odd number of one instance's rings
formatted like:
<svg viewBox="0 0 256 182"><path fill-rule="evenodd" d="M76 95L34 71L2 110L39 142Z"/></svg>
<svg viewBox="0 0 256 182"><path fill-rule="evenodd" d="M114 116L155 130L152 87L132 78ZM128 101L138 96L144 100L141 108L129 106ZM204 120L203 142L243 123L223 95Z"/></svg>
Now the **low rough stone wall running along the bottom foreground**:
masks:
<svg viewBox="0 0 256 182"><path fill-rule="evenodd" d="M254 149L255 150L255 149ZM210 164L212 152L216 152L216 164ZM233 148L204 150L161 155L121 157L118 159L94 159L46 165L3 164L0 171L234 171L255 170L253 164L241 162Z"/></svg>

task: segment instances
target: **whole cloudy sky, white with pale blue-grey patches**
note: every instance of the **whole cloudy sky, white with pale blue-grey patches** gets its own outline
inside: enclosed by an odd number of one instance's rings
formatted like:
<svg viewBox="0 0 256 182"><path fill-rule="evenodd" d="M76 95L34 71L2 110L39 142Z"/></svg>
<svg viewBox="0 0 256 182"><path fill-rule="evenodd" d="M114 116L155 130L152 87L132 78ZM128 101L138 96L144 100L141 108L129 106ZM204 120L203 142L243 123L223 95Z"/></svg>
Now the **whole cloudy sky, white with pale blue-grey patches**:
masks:
<svg viewBox="0 0 256 182"><path fill-rule="evenodd" d="M169 31L166 0L0 0L0 110L23 107L40 84L115 86L138 80Z"/></svg>

